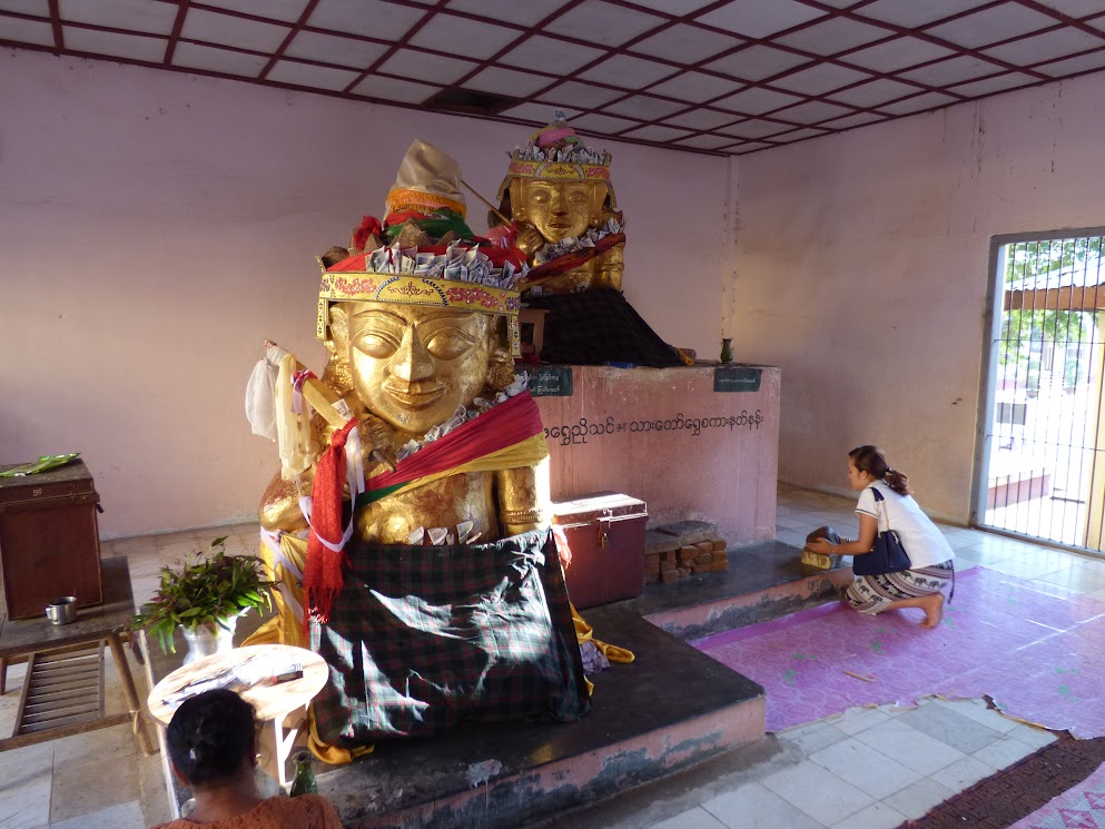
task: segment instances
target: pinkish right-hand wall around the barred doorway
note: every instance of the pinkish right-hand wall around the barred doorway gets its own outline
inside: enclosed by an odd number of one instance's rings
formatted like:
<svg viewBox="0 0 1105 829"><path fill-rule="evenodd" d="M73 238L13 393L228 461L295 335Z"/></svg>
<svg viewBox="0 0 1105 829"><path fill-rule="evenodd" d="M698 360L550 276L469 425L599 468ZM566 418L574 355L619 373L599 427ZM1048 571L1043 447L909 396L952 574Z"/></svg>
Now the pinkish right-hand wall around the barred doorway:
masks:
<svg viewBox="0 0 1105 829"><path fill-rule="evenodd" d="M1105 75L739 160L738 357L778 365L779 474L882 446L968 516L990 237L1105 225Z"/></svg>

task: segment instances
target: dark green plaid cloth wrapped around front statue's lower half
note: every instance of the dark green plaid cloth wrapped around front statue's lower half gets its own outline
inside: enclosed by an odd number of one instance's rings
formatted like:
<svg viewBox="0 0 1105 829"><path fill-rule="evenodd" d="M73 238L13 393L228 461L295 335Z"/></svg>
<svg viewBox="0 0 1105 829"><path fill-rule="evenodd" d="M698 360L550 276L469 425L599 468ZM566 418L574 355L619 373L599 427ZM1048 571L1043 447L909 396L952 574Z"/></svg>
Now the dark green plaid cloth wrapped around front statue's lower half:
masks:
<svg viewBox="0 0 1105 829"><path fill-rule="evenodd" d="M310 647L330 671L314 702L326 742L590 710L551 532L478 545L351 543L347 552L329 624L310 621Z"/></svg>

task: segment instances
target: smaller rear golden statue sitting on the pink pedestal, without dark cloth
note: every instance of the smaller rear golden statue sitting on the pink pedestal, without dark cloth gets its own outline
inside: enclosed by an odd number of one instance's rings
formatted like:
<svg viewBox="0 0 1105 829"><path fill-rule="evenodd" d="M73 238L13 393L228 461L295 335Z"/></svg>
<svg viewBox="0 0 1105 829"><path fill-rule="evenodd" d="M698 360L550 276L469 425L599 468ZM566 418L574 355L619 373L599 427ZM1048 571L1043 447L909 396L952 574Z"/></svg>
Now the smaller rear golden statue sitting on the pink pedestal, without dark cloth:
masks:
<svg viewBox="0 0 1105 829"><path fill-rule="evenodd" d="M531 265L533 295L621 290L625 236L610 184L610 155L585 147L563 114L511 154L500 210Z"/></svg>

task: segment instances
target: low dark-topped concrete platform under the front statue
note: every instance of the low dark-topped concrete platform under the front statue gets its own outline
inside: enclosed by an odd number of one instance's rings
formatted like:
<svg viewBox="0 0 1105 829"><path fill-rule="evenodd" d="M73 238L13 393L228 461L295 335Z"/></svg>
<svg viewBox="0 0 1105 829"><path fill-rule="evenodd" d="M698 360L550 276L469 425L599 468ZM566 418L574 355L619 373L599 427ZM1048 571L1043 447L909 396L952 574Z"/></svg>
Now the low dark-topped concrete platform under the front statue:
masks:
<svg viewBox="0 0 1105 829"><path fill-rule="evenodd" d="M762 542L730 551L728 573L655 585L589 610L600 640L637 654L592 678L574 723L472 723L432 740L378 743L318 776L347 829L521 827L748 747L764 736L763 689L683 641L835 595L850 570L798 563Z"/></svg>

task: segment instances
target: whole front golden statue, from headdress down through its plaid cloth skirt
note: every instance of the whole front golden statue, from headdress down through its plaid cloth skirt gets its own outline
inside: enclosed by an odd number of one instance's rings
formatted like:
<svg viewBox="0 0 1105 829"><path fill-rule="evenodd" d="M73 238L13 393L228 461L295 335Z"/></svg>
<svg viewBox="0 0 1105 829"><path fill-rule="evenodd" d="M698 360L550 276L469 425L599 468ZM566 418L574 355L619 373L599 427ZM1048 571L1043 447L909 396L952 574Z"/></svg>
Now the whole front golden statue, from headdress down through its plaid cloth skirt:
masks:
<svg viewBox="0 0 1105 829"><path fill-rule="evenodd" d="M580 639L632 659L573 621L541 415L514 373L526 256L474 236L460 180L415 141L383 223L319 259L323 376L269 344L247 393L282 461L260 506L277 612L247 643L326 661L309 744L327 762L467 719L576 719ZM558 198L537 227L575 227Z"/></svg>

